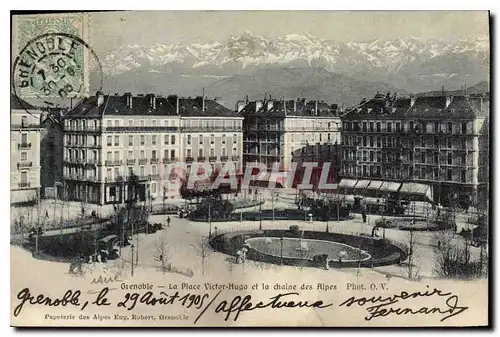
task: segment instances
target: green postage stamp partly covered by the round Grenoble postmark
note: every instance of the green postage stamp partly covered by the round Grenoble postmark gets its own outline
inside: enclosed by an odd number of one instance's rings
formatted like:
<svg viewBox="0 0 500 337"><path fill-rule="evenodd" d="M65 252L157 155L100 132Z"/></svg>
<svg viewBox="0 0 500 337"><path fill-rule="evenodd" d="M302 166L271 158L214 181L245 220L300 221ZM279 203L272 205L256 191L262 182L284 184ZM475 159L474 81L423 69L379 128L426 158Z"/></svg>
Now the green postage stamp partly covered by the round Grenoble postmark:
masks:
<svg viewBox="0 0 500 337"><path fill-rule="evenodd" d="M89 45L89 16L14 16L13 91L23 100L55 104L89 94L90 69L100 73ZM97 89L100 89L98 86Z"/></svg>

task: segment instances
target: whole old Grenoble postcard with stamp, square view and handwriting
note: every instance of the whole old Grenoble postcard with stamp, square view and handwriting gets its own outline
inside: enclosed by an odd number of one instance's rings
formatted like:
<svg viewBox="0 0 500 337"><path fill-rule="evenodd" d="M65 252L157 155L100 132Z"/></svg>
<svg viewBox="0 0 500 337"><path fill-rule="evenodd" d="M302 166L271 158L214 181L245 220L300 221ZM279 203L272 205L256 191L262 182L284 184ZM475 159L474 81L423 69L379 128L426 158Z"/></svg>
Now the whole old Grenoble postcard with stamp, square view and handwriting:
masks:
<svg viewBox="0 0 500 337"><path fill-rule="evenodd" d="M490 324L488 11L11 31L12 326Z"/></svg>

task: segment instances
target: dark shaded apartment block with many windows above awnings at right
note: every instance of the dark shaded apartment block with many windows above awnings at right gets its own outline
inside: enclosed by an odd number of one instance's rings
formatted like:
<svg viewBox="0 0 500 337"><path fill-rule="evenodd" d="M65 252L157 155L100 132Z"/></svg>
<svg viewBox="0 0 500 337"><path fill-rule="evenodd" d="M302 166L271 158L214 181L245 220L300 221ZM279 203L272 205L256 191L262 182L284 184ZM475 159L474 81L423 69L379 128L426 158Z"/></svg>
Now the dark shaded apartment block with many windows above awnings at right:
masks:
<svg viewBox="0 0 500 337"><path fill-rule="evenodd" d="M488 96L377 94L342 117L342 176L418 182L441 204L477 203L487 194L488 115Z"/></svg>

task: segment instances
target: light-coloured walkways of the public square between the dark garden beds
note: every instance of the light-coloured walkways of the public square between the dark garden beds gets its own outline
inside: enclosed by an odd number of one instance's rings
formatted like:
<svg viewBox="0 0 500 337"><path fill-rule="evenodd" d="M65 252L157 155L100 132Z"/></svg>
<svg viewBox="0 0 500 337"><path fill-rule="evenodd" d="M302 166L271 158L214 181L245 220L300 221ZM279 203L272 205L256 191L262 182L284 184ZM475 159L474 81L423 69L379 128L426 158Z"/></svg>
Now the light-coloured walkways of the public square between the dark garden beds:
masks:
<svg viewBox="0 0 500 337"><path fill-rule="evenodd" d="M262 198L266 202L260 207L261 210L269 210L273 208L276 211L283 209L296 209L295 205L295 195L294 191L283 190L278 193L278 197L270 200L270 196L266 195L266 191L262 191L256 198ZM273 192L276 193L276 192ZM185 200L175 199L168 200L169 205L179 205L185 204ZM158 204L156 202L155 204ZM60 204L62 205L62 204ZM45 207L43 207L45 206ZM66 218L78 218L81 213L80 203L66 203L65 207L54 207L54 201L46 203L40 207L41 214L49 212L50 214L55 214L56 219L60 218L61 215L63 219ZM101 212L102 216L109 215L113 213L112 205L97 207L96 205L85 205L85 212L90 213L93 210ZM427 207L423 205L417 205L416 213L425 214L429 212ZM21 212L21 209L16 209ZM69 210L69 211L68 211ZM46 212L45 212L46 211ZM246 209L234 210L235 213L238 212L255 212L258 214L259 207L254 206ZM13 216L16 214L13 211ZM219 275L221 272L238 273L238 270L245 270L245 273L251 273L255 271L256 273L261 273L263 270L279 270L281 268L285 269L299 269L302 272L303 269L307 269L308 273L345 273L346 275L354 275L357 277L373 276L379 275L380 277L399 277L408 278L408 271L405 264L401 265L389 265L374 268L342 268L342 270L329 270L320 271L313 270L314 268L299 268L290 266L277 266L273 264L266 264L263 262L255 262L247 260L244 265L235 264L234 257L225 255L223 253L214 251L212 247L208 245L209 233L217 234L227 231L245 231L245 230L258 230L259 228L266 229L283 229L287 230L290 226L297 225L300 230L305 231L318 231L324 232L327 230L329 232L344 233L351 235L372 235L372 229L375 222L381 218L380 215L368 215L367 222L363 223L361 214L352 213L350 219L343 221L318 221L308 217L309 214L305 214L304 220L262 220L259 221L259 217L256 217L255 221L225 221L217 222L216 220L211 221L211 223L206 221L192 221L186 218L179 218L177 215L151 215L149 217L150 223L162 223L164 229L160 230L154 234L136 234L131 240L131 244L134 246L134 269L135 273L147 273L148 270L157 270L160 268L161 263L159 262L159 256L164 255L164 261L171 264L171 267L175 270L181 271L181 273L188 273L192 271L194 274L212 274L216 273ZM470 229L471 225L467 223L467 219L471 214L458 213L457 220L457 231L462 228ZM167 218L171 219L170 226L167 226ZM385 217L387 218L387 217ZM307 219L307 220L306 220ZM49 219L50 220L50 219ZM48 221L50 223L50 221ZM71 223L69 223L71 224ZM67 229L60 228L47 228L44 235L59 235L60 233L72 233L79 231L78 227L70 227ZM380 230L379 230L380 231ZM402 245L408 245L410 240L410 232L405 230L399 230L394 228L386 228L383 234L386 238L394 240ZM411 278L433 278L435 277L435 251L438 246L437 232L432 231L414 231L413 240L415 242L413 248L413 264L418 270L418 272ZM19 239L20 234L13 234L13 239ZM464 239L455 235L453 240L458 240L458 242L464 241ZM15 240L13 240L15 241ZM21 251L21 248L14 247L16 251L16 258L18 254L26 255L31 253L27 251ZM161 253L160 253L161 251ZM128 273L131 272L131 255L132 246L126 246L121 249L121 257L114 261L108 261L107 264L111 266L118 266L121 270L126 270ZM471 247L471 258L478 259L480 255L480 248ZM25 259L25 262L29 261L30 264L46 264L56 262L47 262L40 259L35 259L30 256L30 258ZM69 264L62 263L60 266L63 270L67 268ZM89 270L92 270L90 268ZM256 274L257 275L257 274Z"/></svg>

